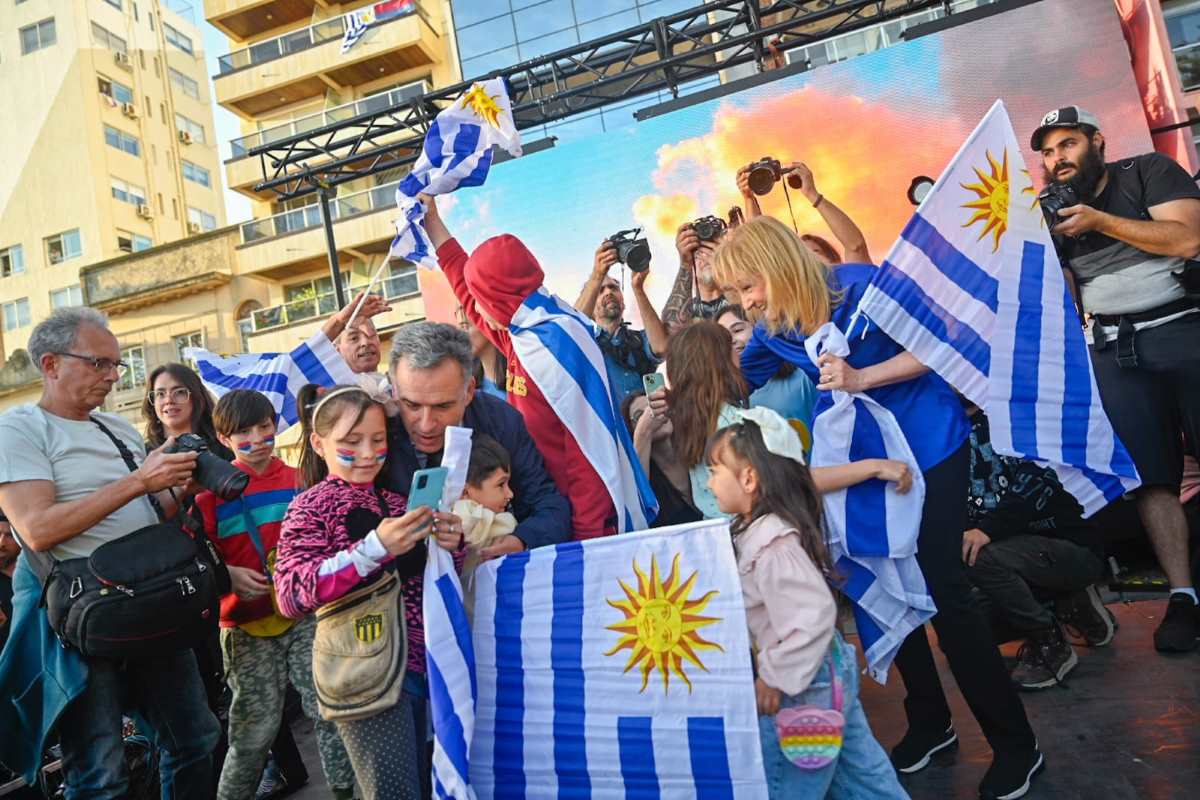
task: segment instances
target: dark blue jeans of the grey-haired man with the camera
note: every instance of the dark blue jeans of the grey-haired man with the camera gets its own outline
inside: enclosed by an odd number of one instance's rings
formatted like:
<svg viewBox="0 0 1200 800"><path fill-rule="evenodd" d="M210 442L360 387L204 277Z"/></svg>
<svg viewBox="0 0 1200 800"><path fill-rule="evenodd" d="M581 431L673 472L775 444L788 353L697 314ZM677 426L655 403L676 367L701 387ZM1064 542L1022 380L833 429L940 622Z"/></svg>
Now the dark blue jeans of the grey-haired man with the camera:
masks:
<svg viewBox="0 0 1200 800"><path fill-rule="evenodd" d="M160 752L163 800L211 800L211 757L221 728L191 650L143 661L88 661L88 688L58 726L67 800L125 796L124 710Z"/></svg>

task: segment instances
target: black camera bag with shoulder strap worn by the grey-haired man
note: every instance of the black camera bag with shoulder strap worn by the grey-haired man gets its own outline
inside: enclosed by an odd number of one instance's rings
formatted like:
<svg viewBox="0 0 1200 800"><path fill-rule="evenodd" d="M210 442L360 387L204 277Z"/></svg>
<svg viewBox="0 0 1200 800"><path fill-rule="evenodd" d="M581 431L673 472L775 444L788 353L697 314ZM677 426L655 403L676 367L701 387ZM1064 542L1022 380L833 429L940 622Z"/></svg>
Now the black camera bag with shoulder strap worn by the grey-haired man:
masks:
<svg viewBox="0 0 1200 800"><path fill-rule="evenodd" d="M125 443L91 421L136 471ZM187 515L164 519L157 499L148 499L160 523L101 545L88 558L59 561L25 551L42 581L50 627L84 656L145 658L187 650L217 624L218 601L228 591L220 554L203 531L185 527Z"/></svg>

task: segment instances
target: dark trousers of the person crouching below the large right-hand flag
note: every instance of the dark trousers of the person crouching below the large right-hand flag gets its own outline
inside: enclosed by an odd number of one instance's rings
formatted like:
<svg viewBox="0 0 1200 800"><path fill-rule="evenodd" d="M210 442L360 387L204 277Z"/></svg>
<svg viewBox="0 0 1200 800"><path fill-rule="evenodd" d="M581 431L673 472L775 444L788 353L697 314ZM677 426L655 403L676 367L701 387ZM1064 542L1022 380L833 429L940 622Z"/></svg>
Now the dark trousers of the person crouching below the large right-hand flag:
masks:
<svg viewBox="0 0 1200 800"><path fill-rule="evenodd" d="M967 567L967 578L984 593L992 614L1022 636L1054 625L1054 614L1036 591L1069 595L1103 575L1104 563L1086 547L1033 534L994 540Z"/></svg>

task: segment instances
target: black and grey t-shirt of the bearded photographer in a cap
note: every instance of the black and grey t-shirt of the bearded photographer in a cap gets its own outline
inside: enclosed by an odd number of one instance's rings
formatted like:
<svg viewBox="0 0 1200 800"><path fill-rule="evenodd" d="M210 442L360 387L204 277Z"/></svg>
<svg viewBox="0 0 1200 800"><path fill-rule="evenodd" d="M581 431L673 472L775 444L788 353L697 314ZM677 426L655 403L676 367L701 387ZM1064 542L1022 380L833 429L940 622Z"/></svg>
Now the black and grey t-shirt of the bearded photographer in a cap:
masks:
<svg viewBox="0 0 1200 800"><path fill-rule="evenodd" d="M1127 219L1150 219L1148 209L1170 200L1200 199L1200 188L1174 160L1148 152L1105 164L1108 184L1087 205ZM1183 259L1156 255L1099 233L1055 236L1063 263L1079 283L1084 311L1136 313L1184 296L1172 272Z"/></svg>

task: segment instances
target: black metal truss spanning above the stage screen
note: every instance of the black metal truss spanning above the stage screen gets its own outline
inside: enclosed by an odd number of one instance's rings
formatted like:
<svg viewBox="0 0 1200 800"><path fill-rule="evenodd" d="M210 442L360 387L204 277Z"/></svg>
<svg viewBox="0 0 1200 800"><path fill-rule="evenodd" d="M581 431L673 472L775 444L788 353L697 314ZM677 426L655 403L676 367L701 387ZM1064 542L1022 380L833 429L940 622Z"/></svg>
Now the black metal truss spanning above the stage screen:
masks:
<svg viewBox="0 0 1200 800"><path fill-rule="evenodd" d="M481 76L509 86L518 130L679 88L724 70L782 64L787 50L948 0L714 0ZM288 199L414 162L438 112L472 82L253 149L256 191Z"/></svg>

